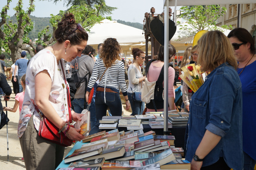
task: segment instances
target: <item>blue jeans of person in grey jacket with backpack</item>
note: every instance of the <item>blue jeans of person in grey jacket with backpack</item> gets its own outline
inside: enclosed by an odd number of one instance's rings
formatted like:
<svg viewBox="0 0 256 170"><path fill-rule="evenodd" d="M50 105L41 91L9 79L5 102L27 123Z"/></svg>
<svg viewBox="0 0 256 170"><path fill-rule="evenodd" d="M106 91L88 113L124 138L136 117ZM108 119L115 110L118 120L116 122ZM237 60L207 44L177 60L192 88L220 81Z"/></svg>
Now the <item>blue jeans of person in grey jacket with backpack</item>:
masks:
<svg viewBox="0 0 256 170"><path fill-rule="evenodd" d="M72 100L72 104L74 106L75 113L82 113L84 106L84 99L74 99ZM86 102L86 108L88 107L88 103ZM95 112L95 101L94 98L91 99L91 105L89 107L90 111L90 126L91 129L96 124L96 112Z"/></svg>

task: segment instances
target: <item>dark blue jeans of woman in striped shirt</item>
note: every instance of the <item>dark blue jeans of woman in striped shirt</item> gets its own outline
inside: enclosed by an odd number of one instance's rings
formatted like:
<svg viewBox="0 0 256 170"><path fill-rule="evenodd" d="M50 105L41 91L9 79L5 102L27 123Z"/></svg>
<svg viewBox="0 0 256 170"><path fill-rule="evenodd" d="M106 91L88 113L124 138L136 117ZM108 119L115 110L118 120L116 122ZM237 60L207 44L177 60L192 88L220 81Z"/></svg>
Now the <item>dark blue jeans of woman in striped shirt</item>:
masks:
<svg viewBox="0 0 256 170"><path fill-rule="evenodd" d="M104 88L104 87L103 87ZM116 91L117 93L111 93L111 92L105 92L106 95L106 103L104 101L104 92L103 91L96 91L95 96L95 108L96 108L96 124L91 129L89 135L98 133L101 131L99 129L99 121L102 120L103 116L107 115L107 107L110 108L112 116L122 116L122 102L119 96L119 90L116 88L106 87L110 88L113 91Z"/></svg>

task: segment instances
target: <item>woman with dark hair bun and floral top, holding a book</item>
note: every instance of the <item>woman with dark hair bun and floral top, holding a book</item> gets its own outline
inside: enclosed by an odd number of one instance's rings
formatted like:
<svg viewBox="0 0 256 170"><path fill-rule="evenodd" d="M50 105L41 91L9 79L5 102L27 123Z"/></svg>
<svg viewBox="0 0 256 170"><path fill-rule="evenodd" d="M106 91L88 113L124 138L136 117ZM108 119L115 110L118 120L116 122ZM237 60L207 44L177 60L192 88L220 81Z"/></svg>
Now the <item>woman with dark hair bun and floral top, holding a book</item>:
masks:
<svg viewBox="0 0 256 170"><path fill-rule="evenodd" d="M56 43L37 53L28 64L24 105L20 112L18 136L27 170L54 170L63 160L64 147L38 135L41 116L47 119L73 141L84 138L80 129L69 126L81 120L81 114L70 109L69 85L66 83L64 60L70 62L81 56L88 34L74 15L66 13L54 32Z"/></svg>

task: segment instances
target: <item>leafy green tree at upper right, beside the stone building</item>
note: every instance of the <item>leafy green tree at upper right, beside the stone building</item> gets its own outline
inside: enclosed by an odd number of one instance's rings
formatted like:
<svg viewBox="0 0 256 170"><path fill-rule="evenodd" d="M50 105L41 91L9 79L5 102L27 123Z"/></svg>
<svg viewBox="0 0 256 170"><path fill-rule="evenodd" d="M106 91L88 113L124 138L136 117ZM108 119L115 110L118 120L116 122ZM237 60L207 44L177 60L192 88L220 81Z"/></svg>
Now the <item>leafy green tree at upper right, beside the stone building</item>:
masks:
<svg viewBox="0 0 256 170"><path fill-rule="evenodd" d="M217 27L217 20L220 16L226 13L226 8L220 8L219 5L198 5L198 6L182 6L181 14L179 17L184 19L188 25L180 25L180 29L190 33L190 36L195 35L198 31L208 29L208 30L220 30L232 29L232 26L222 25L221 28ZM181 22L177 21L177 24Z"/></svg>

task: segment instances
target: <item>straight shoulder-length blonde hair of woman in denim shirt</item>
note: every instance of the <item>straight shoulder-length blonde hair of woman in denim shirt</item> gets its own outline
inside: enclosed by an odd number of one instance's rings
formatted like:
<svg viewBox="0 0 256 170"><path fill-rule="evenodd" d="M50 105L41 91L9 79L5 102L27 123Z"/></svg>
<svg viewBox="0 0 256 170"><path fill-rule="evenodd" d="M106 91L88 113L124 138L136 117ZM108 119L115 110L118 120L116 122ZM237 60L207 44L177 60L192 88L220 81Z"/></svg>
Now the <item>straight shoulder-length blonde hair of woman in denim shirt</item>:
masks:
<svg viewBox="0 0 256 170"><path fill-rule="evenodd" d="M235 69L237 61L228 37L221 31L209 31L198 40L198 64L202 71L212 71L220 64L228 62Z"/></svg>

